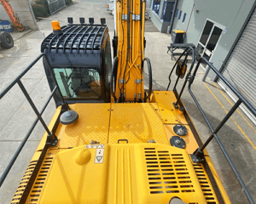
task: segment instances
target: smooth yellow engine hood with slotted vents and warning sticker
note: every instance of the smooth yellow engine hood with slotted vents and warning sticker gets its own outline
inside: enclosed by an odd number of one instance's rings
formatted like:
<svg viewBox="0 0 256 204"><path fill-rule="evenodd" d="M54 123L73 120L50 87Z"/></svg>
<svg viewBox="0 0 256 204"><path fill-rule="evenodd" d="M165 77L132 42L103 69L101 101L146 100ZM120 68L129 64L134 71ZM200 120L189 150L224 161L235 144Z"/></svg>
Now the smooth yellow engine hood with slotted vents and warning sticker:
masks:
<svg viewBox="0 0 256 204"><path fill-rule="evenodd" d="M75 161L90 151L84 164ZM96 162L101 151L102 162ZM206 203L185 150L164 144L82 145L49 156L50 167L36 203ZM45 161L45 160L44 160ZM44 177L42 177L44 178Z"/></svg>

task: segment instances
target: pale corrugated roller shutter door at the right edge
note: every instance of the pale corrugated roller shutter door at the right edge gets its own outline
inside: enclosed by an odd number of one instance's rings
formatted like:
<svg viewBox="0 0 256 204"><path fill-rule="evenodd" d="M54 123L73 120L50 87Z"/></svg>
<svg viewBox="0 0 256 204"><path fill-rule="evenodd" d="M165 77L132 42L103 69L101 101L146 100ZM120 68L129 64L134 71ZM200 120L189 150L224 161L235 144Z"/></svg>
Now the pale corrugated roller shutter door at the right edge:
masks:
<svg viewBox="0 0 256 204"><path fill-rule="evenodd" d="M223 75L256 107L256 9L254 9L230 58L224 66ZM226 88L227 92L230 92ZM232 93L229 93L232 94ZM235 99L236 97L233 96ZM250 113L248 113L249 117ZM256 118L251 118L256 123Z"/></svg>

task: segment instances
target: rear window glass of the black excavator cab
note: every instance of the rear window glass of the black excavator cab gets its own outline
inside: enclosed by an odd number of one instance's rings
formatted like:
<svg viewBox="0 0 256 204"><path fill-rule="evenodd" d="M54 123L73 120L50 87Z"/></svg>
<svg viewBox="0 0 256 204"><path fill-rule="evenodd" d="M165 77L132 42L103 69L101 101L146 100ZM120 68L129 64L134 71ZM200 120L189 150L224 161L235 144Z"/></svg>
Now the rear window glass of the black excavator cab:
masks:
<svg viewBox="0 0 256 204"><path fill-rule="evenodd" d="M102 78L96 69L55 68L54 73L64 99L102 99Z"/></svg>

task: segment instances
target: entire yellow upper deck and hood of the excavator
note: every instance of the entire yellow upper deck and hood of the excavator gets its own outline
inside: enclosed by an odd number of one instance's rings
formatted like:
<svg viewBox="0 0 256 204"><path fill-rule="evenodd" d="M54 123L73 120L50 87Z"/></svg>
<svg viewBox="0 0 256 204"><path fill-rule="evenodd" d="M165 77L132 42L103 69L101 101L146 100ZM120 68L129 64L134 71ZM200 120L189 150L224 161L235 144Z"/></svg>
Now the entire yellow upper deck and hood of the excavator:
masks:
<svg viewBox="0 0 256 204"><path fill-rule="evenodd" d="M217 204L205 167L191 162L189 155L198 144L185 117L172 110L175 94L154 92L152 101L155 103L69 105L79 113L79 120L73 125L58 125L55 135L59 143L46 153L26 203L153 204L168 203L177 196L186 203ZM58 108L55 112L50 130L60 111ZM163 118L171 122L164 122ZM175 135L173 127L180 123L188 129L188 134L182 137L185 150L172 147L169 142ZM46 136L12 203L20 200ZM119 139L127 139L128 144L117 144ZM151 139L156 143L147 143ZM90 144L91 140L100 144ZM102 163L96 162L99 150L104 152ZM229 203L212 161L206 157L224 201Z"/></svg>

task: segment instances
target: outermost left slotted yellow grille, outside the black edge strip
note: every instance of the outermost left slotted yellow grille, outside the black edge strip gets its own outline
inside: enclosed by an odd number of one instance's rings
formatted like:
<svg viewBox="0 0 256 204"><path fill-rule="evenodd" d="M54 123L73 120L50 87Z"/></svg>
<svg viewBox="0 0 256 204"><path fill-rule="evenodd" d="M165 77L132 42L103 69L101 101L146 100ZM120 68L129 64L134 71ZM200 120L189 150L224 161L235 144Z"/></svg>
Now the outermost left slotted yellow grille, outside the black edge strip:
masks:
<svg viewBox="0 0 256 204"><path fill-rule="evenodd" d="M32 172L34 171L36 164L38 161L31 161L26 168L26 172L24 173L24 176L22 177L20 184L15 192L14 198L11 201L12 204L18 204L20 202L21 195L23 194L26 184L28 183L29 178L32 175Z"/></svg>

